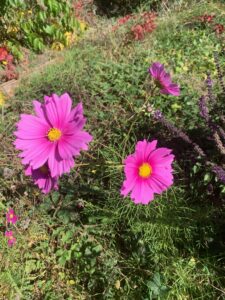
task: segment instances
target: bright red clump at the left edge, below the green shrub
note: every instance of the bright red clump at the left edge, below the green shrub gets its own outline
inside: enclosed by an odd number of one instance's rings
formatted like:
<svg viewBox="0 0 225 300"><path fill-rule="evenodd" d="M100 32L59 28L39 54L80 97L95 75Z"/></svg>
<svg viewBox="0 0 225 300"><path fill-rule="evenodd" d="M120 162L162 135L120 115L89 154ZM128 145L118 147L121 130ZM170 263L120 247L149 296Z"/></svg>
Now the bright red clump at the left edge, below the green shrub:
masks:
<svg viewBox="0 0 225 300"><path fill-rule="evenodd" d="M0 63L4 66L4 72L0 75L1 80L8 81L18 77L13 61L13 56L8 50L5 47L0 47Z"/></svg>

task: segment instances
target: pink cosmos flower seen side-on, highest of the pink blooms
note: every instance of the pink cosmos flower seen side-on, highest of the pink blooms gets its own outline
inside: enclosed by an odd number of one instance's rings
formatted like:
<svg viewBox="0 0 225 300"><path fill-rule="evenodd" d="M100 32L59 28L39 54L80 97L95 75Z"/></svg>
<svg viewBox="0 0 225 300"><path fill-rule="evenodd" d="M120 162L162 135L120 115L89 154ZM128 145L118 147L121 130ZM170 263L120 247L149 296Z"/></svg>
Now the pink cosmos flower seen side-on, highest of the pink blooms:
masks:
<svg viewBox="0 0 225 300"><path fill-rule="evenodd" d="M149 73L155 79L156 85L161 89L160 93L170 94L173 96L180 95L180 88L177 84L172 83L169 73L166 73L164 65L155 62L149 68Z"/></svg>

